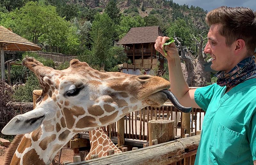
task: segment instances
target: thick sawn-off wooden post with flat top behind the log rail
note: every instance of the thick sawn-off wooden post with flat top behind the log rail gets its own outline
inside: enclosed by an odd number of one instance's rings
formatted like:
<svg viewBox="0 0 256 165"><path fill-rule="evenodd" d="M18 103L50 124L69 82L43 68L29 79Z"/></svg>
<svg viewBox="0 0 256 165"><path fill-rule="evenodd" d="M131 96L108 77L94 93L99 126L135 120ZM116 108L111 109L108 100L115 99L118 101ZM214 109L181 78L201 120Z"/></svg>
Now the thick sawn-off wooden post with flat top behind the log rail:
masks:
<svg viewBox="0 0 256 165"><path fill-rule="evenodd" d="M148 122L149 146L152 140L157 139L158 144L175 139L174 120L150 120Z"/></svg>

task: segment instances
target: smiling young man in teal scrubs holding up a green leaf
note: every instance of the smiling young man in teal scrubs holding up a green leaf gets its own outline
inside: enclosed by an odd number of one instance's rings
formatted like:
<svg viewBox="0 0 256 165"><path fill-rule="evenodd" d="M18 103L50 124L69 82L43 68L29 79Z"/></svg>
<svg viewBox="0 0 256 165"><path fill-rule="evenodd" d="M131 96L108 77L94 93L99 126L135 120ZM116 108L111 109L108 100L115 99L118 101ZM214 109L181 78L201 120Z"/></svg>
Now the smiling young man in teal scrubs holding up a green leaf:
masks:
<svg viewBox="0 0 256 165"><path fill-rule="evenodd" d="M175 43L165 47L171 91L183 106L206 111L195 164L256 165L256 13L222 6L205 20L210 30L204 52L219 71L217 83L189 90ZM168 39L156 39L155 49L163 55Z"/></svg>

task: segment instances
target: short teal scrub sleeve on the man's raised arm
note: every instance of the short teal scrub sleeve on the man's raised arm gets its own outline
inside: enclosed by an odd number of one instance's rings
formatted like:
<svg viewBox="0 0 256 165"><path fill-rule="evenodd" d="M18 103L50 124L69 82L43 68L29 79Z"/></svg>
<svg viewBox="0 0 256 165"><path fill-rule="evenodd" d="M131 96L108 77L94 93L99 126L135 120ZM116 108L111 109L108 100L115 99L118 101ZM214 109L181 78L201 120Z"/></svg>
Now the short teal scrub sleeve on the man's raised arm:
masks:
<svg viewBox="0 0 256 165"><path fill-rule="evenodd" d="M196 104L200 106L205 112L212 100L212 96L214 93L213 91L215 87L216 83L206 87L197 88L195 91L194 98Z"/></svg>

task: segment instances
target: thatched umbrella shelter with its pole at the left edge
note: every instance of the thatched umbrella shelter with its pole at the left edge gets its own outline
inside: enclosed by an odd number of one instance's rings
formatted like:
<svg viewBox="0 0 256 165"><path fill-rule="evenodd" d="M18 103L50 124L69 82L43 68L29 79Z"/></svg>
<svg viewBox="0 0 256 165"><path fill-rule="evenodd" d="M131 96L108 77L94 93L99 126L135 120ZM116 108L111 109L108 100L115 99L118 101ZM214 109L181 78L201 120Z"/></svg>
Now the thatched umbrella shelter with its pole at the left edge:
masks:
<svg viewBox="0 0 256 165"><path fill-rule="evenodd" d="M1 79L4 80L4 50L6 51L38 51L41 50L35 43L0 26L0 54L1 54Z"/></svg>

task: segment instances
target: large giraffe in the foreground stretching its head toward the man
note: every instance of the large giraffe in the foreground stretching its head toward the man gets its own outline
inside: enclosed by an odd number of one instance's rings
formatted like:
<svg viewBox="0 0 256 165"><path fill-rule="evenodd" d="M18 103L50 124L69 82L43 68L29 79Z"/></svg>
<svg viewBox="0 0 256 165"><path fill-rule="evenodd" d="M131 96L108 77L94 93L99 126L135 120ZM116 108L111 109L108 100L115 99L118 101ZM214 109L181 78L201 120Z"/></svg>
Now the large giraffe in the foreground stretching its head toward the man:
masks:
<svg viewBox="0 0 256 165"><path fill-rule="evenodd" d="M146 106L161 106L170 97L163 92L170 83L157 76L102 73L77 59L64 70L31 57L22 65L35 73L43 92L34 110L15 116L2 130L19 135L5 164L50 164L78 132L109 125Z"/></svg>

